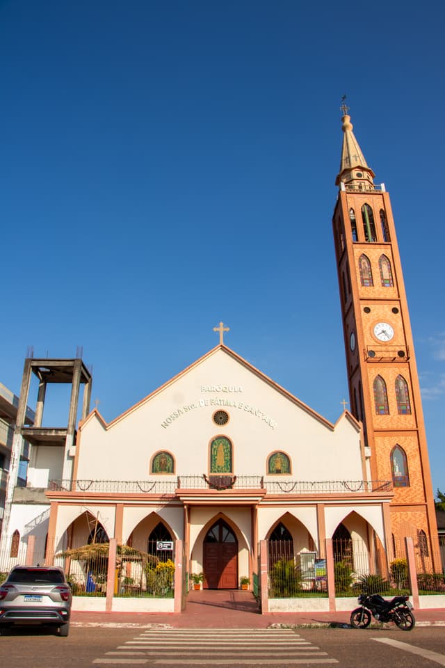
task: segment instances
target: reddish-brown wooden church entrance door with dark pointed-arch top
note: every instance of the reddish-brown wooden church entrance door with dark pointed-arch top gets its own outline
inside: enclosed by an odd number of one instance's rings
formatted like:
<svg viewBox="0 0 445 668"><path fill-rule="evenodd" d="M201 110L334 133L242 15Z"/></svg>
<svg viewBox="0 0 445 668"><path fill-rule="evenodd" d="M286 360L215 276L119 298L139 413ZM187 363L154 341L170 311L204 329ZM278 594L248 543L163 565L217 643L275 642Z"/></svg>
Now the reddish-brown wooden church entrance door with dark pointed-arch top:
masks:
<svg viewBox="0 0 445 668"><path fill-rule="evenodd" d="M204 589L237 589L238 541L223 520L207 532L203 556Z"/></svg>

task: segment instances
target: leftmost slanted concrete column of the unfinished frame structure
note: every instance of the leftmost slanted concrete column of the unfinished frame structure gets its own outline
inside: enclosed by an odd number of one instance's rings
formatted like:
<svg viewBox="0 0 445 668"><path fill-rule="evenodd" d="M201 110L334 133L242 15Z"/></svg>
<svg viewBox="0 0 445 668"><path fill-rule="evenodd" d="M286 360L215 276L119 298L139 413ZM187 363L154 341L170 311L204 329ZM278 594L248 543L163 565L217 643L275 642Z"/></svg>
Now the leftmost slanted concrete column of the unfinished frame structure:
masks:
<svg viewBox="0 0 445 668"><path fill-rule="evenodd" d="M22 388L20 388L19 405L17 406L17 418L15 421L15 431L13 438L13 447L11 449L8 482L6 484L5 509L3 511L3 524L0 537L0 554L8 549L10 539L10 516L13 505L14 490L17 485L19 475L20 455L23 450L22 427L26 420L26 406L28 405L29 385L31 383L31 359L25 360Z"/></svg>

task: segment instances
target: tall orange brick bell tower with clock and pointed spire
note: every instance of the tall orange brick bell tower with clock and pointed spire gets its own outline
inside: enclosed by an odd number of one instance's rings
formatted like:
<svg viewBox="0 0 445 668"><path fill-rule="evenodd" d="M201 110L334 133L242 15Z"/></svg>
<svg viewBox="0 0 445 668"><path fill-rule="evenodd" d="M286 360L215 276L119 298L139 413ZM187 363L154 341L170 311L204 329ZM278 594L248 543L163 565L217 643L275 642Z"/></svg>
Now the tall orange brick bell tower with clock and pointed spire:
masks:
<svg viewBox="0 0 445 668"><path fill-rule="evenodd" d="M401 257L389 193L341 107L343 146L334 209L351 412L364 424L369 477L390 480L393 557L414 540L422 571L442 572L425 425Z"/></svg>

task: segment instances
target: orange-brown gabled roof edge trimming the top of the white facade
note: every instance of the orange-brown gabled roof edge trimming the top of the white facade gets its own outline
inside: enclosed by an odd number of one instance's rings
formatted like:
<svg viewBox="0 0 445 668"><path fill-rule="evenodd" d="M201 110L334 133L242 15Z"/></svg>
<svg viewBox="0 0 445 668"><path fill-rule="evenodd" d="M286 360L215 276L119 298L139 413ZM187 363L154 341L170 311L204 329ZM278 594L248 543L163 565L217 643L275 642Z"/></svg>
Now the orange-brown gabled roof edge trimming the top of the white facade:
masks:
<svg viewBox="0 0 445 668"><path fill-rule="evenodd" d="M318 420L318 422L321 422L321 424L323 424L327 429L330 429L330 431L334 431L334 429L337 427L337 424L339 424L339 422L343 418L346 418L348 420L348 422L350 422L350 424L352 424L353 427L355 427L355 429L357 431L360 431L360 429L361 429L360 422L358 422L355 419L355 417L352 415L352 413L350 413L349 411L343 411L343 413L339 417L339 420L337 420L337 422L335 422L335 424L332 424L332 422L330 422L329 420L326 420L325 417L323 417L323 415L320 415L319 413L314 411L312 408L307 406L307 404L305 404L303 401L300 401L300 399L298 399L297 397L292 395L291 392L288 392L288 390L285 390L284 388L282 388L281 385L279 385L278 383L275 383L275 381L273 381L268 376L266 376L266 374L259 371L259 369L254 367L247 360L245 360L240 355L238 355L238 353L236 353L232 349L228 348L224 344L218 344L216 347L209 350L208 353L205 353L205 355L203 355L202 357L197 359L195 362L193 362L191 365L189 365L188 367L183 369L183 371L179 372L179 374L177 374L176 376L173 376L169 381L167 381L166 383L163 383L163 385L161 385L159 388L157 388L153 392L150 392L150 394L147 395L147 397L144 397L143 399L138 401L137 404L134 404L133 406L128 408L127 411L124 411L124 413L122 413L121 415L118 415L118 417L115 417L114 420L111 420L111 422L107 423L104 420L104 418L102 417L102 415L99 413L97 408L93 408L93 410L86 417L86 419L83 420L81 422L81 424L79 424L79 429L82 429L82 427L84 427L85 424L87 422L89 422L92 419L92 417L94 417L94 416L97 417L97 419L102 423L104 429L111 429L112 427L114 427L115 424L117 424L118 422L123 420L124 417L127 417L127 415L130 415L131 413L133 413L133 411L136 411L138 408L140 408L140 406L143 406L144 404L147 404L148 401L150 401L151 399L156 397L156 395L159 395L160 392L163 392L163 390L170 387L170 385L173 385L175 382L177 382L183 376L186 376L189 372L191 372L192 369L194 369L195 367L204 363L207 359L211 358L211 356L215 355L219 351L222 351L223 353L225 353L226 355L228 355L232 359L234 359L236 362L243 365L243 367L248 369L248 371L250 371L252 374L257 376L261 381L270 385L270 387L273 388L274 390L276 390L277 392L280 392L280 394L283 397L286 397L286 399L289 399L289 401L291 401L293 404L295 404L296 406L301 408L303 411L305 411L306 413L309 413L309 415L312 415L312 417L314 417L316 420Z"/></svg>

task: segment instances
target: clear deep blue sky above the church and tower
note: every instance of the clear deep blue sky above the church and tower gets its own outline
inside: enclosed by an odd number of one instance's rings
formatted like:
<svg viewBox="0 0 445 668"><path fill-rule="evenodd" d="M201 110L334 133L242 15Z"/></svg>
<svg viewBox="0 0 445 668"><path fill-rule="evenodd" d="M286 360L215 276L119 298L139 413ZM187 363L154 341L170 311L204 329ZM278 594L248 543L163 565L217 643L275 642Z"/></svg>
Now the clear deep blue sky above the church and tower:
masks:
<svg viewBox="0 0 445 668"><path fill-rule="evenodd" d="M444 490L444 19L439 1L0 0L0 381L19 392L29 346L82 346L111 420L223 320L229 347L337 420L346 94L391 195Z"/></svg>

